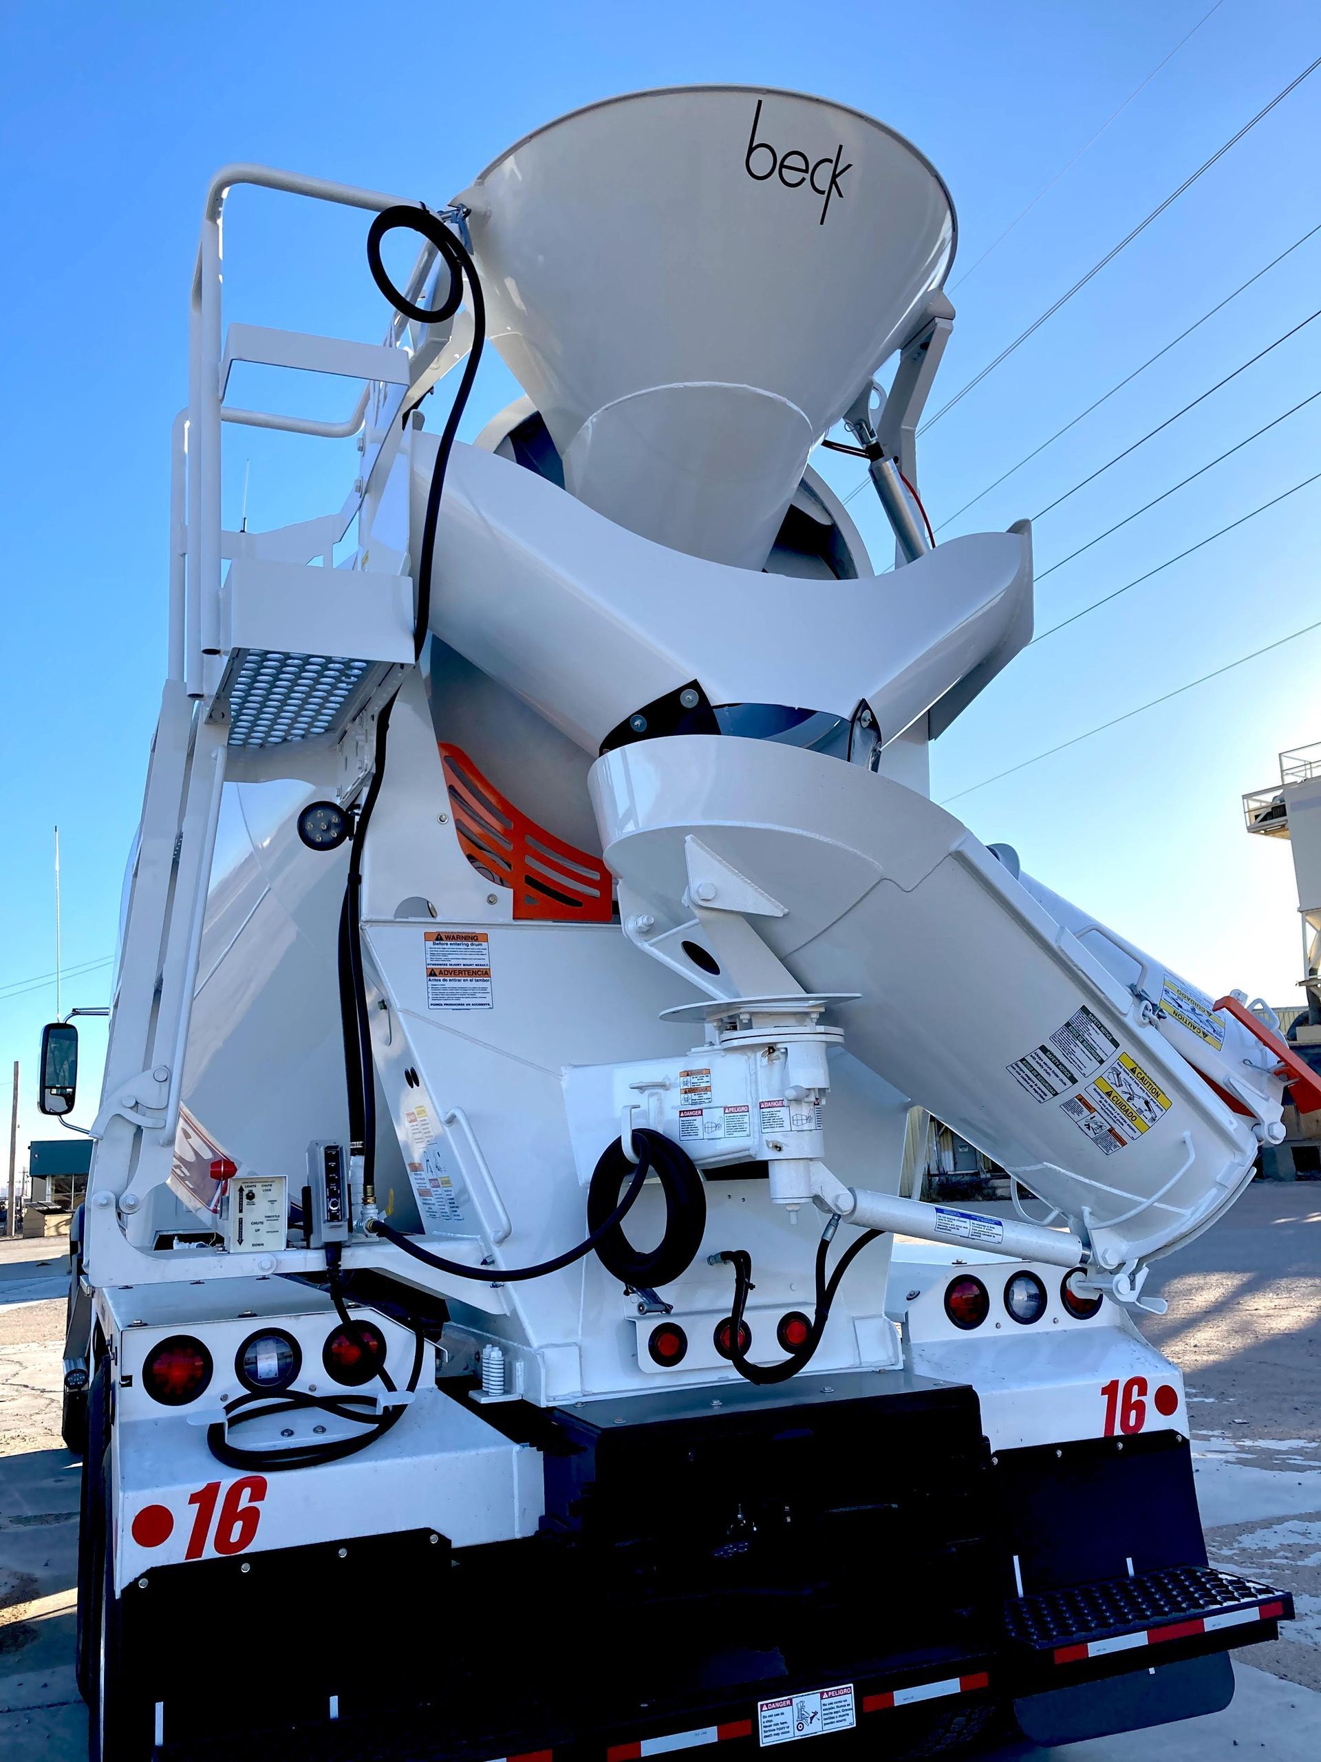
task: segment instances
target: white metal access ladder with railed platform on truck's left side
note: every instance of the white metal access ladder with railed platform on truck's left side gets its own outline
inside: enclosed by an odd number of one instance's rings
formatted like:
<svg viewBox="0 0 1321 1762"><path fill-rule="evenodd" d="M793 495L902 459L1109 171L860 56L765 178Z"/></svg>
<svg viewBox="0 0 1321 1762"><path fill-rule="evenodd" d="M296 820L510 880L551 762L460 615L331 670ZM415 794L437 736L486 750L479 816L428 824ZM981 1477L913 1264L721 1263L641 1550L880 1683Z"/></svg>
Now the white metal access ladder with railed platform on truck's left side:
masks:
<svg viewBox="0 0 1321 1762"><path fill-rule="evenodd" d="M269 774L273 749L338 744L340 800L361 788L375 708L414 661L412 580L403 573L407 559L396 571L368 571L359 553L335 567L335 548L384 483L414 423L421 425L412 416L417 402L463 358L472 335L467 312L433 326L395 315L379 344L255 324L225 331L222 213L236 185L366 211L402 201L247 164L225 166L206 192L192 280L188 405L171 440L167 677L92 1126L97 1142L83 1242L95 1284L197 1274L196 1255L143 1251L153 1246L148 1193L173 1163L224 782ZM437 252L426 243L407 284L414 303L435 271ZM238 361L352 379L361 393L342 421L241 409L227 402ZM352 492L338 511L315 520L264 534L225 530L225 423L314 439L358 435L363 463ZM203 1253L208 1277L252 1270L231 1267L232 1256Z"/></svg>

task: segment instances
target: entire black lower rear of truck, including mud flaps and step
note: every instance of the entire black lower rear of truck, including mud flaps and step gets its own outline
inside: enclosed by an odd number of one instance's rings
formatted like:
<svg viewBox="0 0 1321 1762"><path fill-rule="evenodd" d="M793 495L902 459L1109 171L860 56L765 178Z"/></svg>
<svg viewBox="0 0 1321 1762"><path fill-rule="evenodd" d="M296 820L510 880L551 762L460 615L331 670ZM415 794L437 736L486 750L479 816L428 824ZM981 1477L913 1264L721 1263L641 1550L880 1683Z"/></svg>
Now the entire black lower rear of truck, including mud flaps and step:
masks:
<svg viewBox="0 0 1321 1762"><path fill-rule="evenodd" d="M245 1762L736 1762L854 1727L902 1750L988 1702L1066 1741L1214 1711L1217 1655L1293 1612L1207 1566L1185 1440L992 1455L970 1388L879 1383L495 1408L542 1452L539 1535L148 1566L132 1692L164 1755Z"/></svg>

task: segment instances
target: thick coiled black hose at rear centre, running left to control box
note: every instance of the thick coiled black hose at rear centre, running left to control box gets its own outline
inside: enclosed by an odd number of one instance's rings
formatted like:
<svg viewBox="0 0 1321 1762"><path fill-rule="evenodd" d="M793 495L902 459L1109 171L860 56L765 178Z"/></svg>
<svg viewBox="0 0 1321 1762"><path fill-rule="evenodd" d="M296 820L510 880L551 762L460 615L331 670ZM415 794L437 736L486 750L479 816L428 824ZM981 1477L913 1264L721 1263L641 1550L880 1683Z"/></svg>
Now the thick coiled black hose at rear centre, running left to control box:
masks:
<svg viewBox="0 0 1321 1762"><path fill-rule="evenodd" d="M419 1247L412 1237L391 1228L384 1219L368 1223L372 1235L380 1235L405 1255L421 1260L437 1272L449 1272L458 1279L476 1279L483 1284L516 1284L523 1279L544 1279L548 1272L562 1272L576 1260L583 1260L597 1249L602 1265L616 1279L634 1288L653 1288L676 1279L690 1263L701 1246L701 1233L706 1226L706 1188L692 1159L671 1138L659 1131L636 1129L632 1144L638 1152L638 1165L629 1163L618 1138L597 1161L592 1172L592 1186L587 1195L587 1219L590 1230L587 1237L564 1255L542 1260L535 1267L465 1267L460 1260L446 1260L428 1247ZM620 1228L648 1173L655 1173L666 1196L666 1228L660 1242L653 1249L639 1251ZM629 1188L624 1198L618 1196L624 1173L629 1173ZM608 1209L609 1207L609 1209Z"/></svg>

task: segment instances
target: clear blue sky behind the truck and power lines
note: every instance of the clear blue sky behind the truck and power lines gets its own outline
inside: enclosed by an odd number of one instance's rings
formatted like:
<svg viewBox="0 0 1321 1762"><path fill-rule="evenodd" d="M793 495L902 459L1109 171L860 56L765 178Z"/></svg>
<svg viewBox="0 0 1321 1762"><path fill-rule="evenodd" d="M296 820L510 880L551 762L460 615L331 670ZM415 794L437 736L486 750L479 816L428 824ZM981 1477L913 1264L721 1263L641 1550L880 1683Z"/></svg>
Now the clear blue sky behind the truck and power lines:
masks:
<svg viewBox="0 0 1321 1762"><path fill-rule="evenodd" d="M67 967L114 944L164 673L167 437L185 398L187 287L208 176L262 160L440 203L527 129L592 99L747 81L840 99L907 134L960 215L955 337L932 409L1321 53L1316 9L1224 0L1030 213L1210 0L995 7L675 0L643 9L506 0L484 11L328 4L23 4L0 23L0 226L9 520L0 643L7 775L0 1085L21 1057L19 1142L44 1136L33 1077L55 1006L51 826ZM1270 257L1321 222L1321 72L1302 85L921 442L941 522ZM294 226L294 218L298 226ZM358 215L241 192L229 317L375 337L384 308ZM1321 234L1157 366L944 527L1036 515L1321 307ZM1041 518L1039 569L1321 388L1321 319ZM275 396L255 382L245 398ZM299 388L301 393L301 388ZM514 395L483 370L467 432ZM326 414L342 414L338 396ZM322 405L303 400L305 409ZM1037 627L1321 469L1321 400L1052 573ZM352 453L234 437L225 520L342 500ZM828 460L842 488L852 462ZM870 492L851 504L882 555ZM934 749L946 798L1321 618L1321 485L1039 643ZM1288 849L1249 839L1240 791L1321 738L1321 631L1069 751L976 788L956 812L1059 892L1208 988L1293 1001ZM28 985L26 981L37 981ZM65 983L104 1003L109 966ZM79 1119L104 1038L85 1031Z"/></svg>

